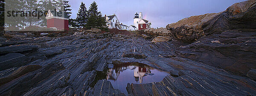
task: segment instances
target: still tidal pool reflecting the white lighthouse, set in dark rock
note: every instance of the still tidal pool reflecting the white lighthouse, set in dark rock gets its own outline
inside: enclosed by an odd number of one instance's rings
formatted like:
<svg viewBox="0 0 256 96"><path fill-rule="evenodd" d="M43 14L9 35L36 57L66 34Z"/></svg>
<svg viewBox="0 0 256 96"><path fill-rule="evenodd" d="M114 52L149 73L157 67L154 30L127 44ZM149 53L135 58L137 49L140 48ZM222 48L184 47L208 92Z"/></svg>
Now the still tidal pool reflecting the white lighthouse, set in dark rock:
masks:
<svg viewBox="0 0 256 96"><path fill-rule="evenodd" d="M113 88L119 89L122 93L126 91L127 83L145 84L160 82L169 73L154 69L143 63L121 63L113 64L113 68L108 68L103 73L97 72L95 81L108 80ZM96 84L96 82L94 82Z"/></svg>

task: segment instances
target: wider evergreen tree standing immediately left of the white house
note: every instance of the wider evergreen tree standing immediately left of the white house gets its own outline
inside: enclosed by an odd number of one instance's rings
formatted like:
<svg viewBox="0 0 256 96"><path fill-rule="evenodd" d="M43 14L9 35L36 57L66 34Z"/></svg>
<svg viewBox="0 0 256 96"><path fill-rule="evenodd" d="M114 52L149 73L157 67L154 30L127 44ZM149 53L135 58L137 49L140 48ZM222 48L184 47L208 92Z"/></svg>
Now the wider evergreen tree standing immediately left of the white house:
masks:
<svg viewBox="0 0 256 96"><path fill-rule="evenodd" d="M102 18L101 12L98 11L98 5L95 1L90 5L88 15L88 21L86 25L87 29L90 29L92 27L102 28L106 26L105 19Z"/></svg>

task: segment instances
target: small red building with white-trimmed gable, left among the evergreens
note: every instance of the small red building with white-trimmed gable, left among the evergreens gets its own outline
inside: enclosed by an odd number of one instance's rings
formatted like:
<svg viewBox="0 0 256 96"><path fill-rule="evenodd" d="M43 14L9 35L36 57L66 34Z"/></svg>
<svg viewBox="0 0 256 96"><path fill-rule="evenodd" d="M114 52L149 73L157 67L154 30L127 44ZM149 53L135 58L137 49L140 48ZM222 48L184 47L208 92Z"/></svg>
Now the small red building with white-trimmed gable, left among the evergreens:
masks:
<svg viewBox="0 0 256 96"><path fill-rule="evenodd" d="M57 30L69 30L68 16L64 12L49 10L46 16L47 28L54 28Z"/></svg>

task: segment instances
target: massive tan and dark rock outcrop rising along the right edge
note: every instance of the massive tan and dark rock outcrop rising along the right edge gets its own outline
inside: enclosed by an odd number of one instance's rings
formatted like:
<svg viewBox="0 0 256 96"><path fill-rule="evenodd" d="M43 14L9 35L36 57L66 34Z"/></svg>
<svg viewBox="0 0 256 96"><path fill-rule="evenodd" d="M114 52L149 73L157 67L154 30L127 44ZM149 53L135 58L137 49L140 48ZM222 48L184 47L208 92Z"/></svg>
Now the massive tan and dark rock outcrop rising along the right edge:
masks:
<svg viewBox="0 0 256 96"><path fill-rule="evenodd" d="M192 16L168 25L173 38L193 42L179 47L179 56L246 76L250 69L256 69L255 3L236 3L218 14ZM191 28L191 33L186 27Z"/></svg>

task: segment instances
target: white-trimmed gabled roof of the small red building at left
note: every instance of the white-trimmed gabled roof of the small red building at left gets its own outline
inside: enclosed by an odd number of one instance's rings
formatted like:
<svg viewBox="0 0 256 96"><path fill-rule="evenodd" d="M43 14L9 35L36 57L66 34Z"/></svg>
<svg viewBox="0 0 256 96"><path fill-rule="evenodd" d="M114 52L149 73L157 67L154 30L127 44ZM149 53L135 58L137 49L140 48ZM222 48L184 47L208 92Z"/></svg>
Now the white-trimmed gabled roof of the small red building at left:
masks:
<svg viewBox="0 0 256 96"><path fill-rule="evenodd" d="M49 10L47 13L46 19L51 19L51 18L69 19L69 17L65 12L57 12L54 10Z"/></svg>

